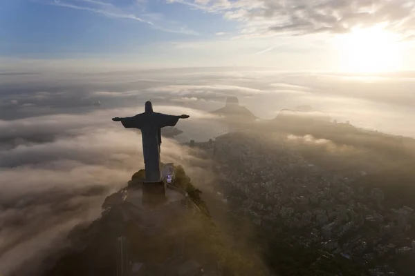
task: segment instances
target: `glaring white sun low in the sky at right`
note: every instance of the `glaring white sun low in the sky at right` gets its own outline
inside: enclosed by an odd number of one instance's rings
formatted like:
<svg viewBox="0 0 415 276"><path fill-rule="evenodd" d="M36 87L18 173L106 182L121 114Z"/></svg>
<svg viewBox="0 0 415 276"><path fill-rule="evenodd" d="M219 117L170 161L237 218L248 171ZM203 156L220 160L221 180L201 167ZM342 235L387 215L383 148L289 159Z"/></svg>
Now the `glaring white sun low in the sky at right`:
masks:
<svg viewBox="0 0 415 276"><path fill-rule="evenodd" d="M342 68L349 72L391 72L400 69L400 43L380 27L355 28L337 37Z"/></svg>

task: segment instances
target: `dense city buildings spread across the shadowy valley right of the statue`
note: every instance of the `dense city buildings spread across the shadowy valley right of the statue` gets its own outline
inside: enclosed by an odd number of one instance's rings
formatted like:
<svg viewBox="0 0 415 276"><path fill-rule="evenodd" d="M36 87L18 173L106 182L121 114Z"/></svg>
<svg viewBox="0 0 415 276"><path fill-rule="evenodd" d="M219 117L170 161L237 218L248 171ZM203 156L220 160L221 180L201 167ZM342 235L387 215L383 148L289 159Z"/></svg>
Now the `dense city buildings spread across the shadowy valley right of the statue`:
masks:
<svg viewBox="0 0 415 276"><path fill-rule="evenodd" d="M356 275L411 275L414 209L396 206L382 188L358 185L379 168L330 170L304 158L290 139L271 138L229 133L192 143L214 160L215 193L230 219L248 218L261 235L298 248L291 256L297 262L302 248L313 249L353 264Z"/></svg>

